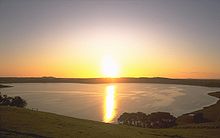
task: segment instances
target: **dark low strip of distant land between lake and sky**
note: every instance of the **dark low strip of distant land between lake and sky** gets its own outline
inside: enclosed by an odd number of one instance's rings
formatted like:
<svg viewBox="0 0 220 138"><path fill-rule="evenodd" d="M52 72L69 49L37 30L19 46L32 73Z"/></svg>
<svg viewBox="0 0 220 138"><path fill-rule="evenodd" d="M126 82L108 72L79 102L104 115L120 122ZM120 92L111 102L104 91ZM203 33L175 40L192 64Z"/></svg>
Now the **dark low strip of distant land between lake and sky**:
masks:
<svg viewBox="0 0 220 138"><path fill-rule="evenodd" d="M0 83L160 83L220 87L220 79L0 77Z"/></svg>

